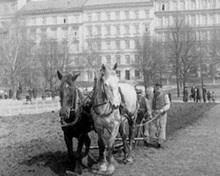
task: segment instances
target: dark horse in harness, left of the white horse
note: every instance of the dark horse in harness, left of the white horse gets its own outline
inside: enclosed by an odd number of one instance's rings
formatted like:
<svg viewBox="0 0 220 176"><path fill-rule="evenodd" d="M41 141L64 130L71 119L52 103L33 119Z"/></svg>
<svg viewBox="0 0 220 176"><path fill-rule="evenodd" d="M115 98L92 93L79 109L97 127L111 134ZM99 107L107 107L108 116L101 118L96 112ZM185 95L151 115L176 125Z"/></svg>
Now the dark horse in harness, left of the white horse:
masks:
<svg viewBox="0 0 220 176"><path fill-rule="evenodd" d="M85 97L82 91L75 85L79 74L65 75L57 71L61 80L60 92L60 122L64 132L64 139L70 161L75 163L75 172L82 173L82 158L90 148L91 140L88 133L93 129L92 116L90 115L91 101ZM73 137L78 139L77 151L73 152ZM85 152L82 147L85 144Z"/></svg>

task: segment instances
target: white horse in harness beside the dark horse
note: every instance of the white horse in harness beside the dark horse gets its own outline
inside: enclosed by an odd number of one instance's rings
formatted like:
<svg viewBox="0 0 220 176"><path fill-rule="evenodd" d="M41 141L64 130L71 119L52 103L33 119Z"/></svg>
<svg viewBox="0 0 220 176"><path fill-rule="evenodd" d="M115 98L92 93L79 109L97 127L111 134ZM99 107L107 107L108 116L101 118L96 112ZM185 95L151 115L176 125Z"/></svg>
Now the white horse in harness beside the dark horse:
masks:
<svg viewBox="0 0 220 176"><path fill-rule="evenodd" d="M116 68L117 64L113 69L108 65L102 65L94 83L93 107L91 111L94 128L98 134L98 172L107 175L113 174L115 171L112 152L118 131L124 144L124 160L133 161L131 149L137 112L137 96L133 86L128 84L118 85L119 79L116 75ZM122 108L119 109L121 105ZM129 124L129 148L125 133L126 120ZM109 132L108 139L104 136L105 129ZM104 152L105 146L107 146L106 155Z"/></svg>

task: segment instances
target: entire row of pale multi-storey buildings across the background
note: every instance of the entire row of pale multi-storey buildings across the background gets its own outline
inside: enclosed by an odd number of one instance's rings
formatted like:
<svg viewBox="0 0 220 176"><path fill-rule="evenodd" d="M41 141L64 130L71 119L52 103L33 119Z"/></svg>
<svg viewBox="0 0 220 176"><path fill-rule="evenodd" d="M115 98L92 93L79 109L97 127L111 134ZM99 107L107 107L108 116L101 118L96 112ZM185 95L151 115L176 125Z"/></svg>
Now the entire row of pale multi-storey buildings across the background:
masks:
<svg viewBox="0 0 220 176"><path fill-rule="evenodd" d="M164 38L177 14L201 41L209 41L212 32L220 29L219 0L2 0L0 5L4 10L0 11L1 22L20 12L19 18L36 43L42 35L67 41L71 67L85 81L93 78L93 72L88 74L82 53L91 46L97 65L117 62L122 81L137 80L142 77L133 66L136 44L146 32ZM208 63L211 57L206 53Z"/></svg>

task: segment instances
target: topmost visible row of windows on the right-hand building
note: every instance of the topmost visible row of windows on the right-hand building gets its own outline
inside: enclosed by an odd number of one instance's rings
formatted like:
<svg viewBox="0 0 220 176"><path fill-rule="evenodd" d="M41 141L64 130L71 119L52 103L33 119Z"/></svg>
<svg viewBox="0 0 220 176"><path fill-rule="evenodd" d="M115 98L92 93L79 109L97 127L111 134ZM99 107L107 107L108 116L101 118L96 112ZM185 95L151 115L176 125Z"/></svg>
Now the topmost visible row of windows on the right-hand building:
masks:
<svg viewBox="0 0 220 176"><path fill-rule="evenodd" d="M219 0L170 0L156 4L156 11L216 9L220 7Z"/></svg>

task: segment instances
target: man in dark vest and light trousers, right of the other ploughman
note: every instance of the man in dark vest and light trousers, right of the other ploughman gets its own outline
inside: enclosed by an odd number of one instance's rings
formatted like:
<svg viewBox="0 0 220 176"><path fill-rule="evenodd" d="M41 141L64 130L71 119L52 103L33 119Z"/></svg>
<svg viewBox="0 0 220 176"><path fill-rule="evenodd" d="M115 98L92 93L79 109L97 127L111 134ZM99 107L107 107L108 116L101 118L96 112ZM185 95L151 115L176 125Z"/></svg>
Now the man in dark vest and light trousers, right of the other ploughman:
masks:
<svg viewBox="0 0 220 176"><path fill-rule="evenodd" d="M166 124L167 124L167 111L170 109L170 100L167 94L162 91L162 85L159 83L155 84L154 97L152 101L153 115L158 115L156 120L156 138L157 147L160 148L161 144L166 140Z"/></svg>

